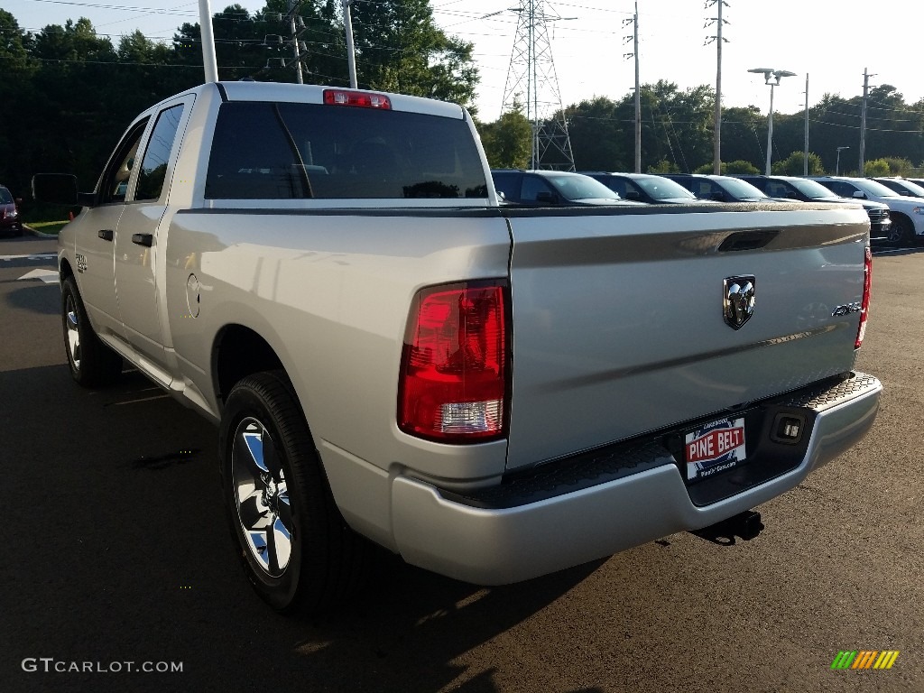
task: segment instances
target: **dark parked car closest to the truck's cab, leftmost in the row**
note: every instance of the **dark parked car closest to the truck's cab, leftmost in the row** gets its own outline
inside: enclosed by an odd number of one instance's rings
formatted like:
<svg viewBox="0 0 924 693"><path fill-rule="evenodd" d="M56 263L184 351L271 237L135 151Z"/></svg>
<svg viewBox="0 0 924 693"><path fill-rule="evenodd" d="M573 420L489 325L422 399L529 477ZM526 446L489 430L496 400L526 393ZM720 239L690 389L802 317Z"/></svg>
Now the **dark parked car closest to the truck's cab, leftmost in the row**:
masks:
<svg viewBox="0 0 924 693"><path fill-rule="evenodd" d="M623 200L590 176L567 171L520 171L508 168L492 170L491 176L494 188L503 193L505 201L518 204L640 204Z"/></svg>

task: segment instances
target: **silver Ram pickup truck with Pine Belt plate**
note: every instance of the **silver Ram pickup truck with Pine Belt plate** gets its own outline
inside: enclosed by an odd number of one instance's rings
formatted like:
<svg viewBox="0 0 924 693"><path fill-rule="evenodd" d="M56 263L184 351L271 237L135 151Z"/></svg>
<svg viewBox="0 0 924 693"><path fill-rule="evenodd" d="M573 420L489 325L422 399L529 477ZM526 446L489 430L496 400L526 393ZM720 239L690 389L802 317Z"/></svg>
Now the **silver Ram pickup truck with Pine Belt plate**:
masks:
<svg viewBox="0 0 924 693"><path fill-rule="evenodd" d="M83 207L74 379L125 359L218 424L280 611L337 594L362 537L503 584L734 522L878 409L858 206L502 205L459 106L248 82L141 114L92 193L33 187Z"/></svg>

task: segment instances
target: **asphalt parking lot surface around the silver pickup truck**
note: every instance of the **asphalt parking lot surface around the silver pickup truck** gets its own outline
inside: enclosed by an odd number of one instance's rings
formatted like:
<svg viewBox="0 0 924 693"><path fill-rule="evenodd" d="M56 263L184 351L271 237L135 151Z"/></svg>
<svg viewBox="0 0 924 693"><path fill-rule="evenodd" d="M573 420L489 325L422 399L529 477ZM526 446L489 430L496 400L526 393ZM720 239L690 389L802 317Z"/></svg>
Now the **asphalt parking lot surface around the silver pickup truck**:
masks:
<svg viewBox="0 0 924 693"><path fill-rule="evenodd" d="M137 374L71 383L54 250L0 240L0 691L924 691L924 249L874 261L873 431L761 505L756 540L677 534L499 589L380 556L313 619L242 576L211 424ZM836 671L841 650L899 655Z"/></svg>

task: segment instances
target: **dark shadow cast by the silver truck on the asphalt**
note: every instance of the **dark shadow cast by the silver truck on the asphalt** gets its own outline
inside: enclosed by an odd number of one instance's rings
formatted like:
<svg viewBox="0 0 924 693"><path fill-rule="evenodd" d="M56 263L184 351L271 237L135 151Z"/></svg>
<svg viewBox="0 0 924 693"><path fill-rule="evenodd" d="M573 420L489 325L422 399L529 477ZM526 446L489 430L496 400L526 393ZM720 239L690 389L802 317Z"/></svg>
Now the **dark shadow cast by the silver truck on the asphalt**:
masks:
<svg viewBox="0 0 924 693"><path fill-rule="evenodd" d="M468 660L567 599L602 561L487 589L380 551L345 604L281 616L237 565L208 421L131 371L94 392L64 364L5 371L0 392L6 517L28 518L0 529L20 550L0 563L16 595L4 614L15 636L0 654L8 689L480 693L500 689L499 671L522 669L523 690L577 690L532 680L529 642L489 664L477 663L483 652ZM30 657L182 662L183 673L40 676L24 673Z"/></svg>

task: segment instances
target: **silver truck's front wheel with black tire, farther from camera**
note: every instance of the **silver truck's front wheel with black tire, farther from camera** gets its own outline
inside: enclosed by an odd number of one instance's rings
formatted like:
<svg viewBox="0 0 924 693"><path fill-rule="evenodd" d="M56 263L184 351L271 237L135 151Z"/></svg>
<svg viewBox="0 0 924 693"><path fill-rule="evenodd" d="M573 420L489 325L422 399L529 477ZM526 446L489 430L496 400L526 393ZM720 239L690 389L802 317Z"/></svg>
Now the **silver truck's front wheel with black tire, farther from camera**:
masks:
<svg viewBox="0 0 924 693"><path fill-rule="evenodd" d="M61 324L71 377L83 387L115 383L122 374L122 357L93 332L73 276L61 283Z"/></svg>

